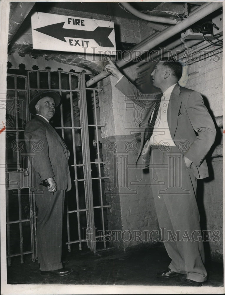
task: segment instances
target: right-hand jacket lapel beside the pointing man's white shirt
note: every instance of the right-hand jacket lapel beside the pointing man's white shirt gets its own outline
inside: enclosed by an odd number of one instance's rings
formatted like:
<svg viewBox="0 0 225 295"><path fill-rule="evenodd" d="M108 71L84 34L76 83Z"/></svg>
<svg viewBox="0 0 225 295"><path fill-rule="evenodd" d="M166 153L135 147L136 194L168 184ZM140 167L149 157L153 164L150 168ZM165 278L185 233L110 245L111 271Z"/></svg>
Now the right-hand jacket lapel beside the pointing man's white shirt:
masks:
<svg viewBox="0 0 225 295"><path fill-rule="evenodd" d="M169 112L167 112L167 122L169 125L170 135L172 139L174 138L175 131L177 129L178 113L182 102L182 98L179 95L180 86L179 84L177 84L170 95L170 101L168 106Z"/></svg>

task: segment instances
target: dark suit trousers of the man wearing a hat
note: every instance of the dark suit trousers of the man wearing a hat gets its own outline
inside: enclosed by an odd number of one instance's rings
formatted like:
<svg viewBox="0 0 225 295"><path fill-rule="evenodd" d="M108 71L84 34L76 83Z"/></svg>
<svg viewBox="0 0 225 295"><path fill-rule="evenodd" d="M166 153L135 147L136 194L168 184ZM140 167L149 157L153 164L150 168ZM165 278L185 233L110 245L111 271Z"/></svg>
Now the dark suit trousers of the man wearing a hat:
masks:
<svg viewBox="0 0 225 295"><path fill-rule="evenodd" d="M62 226L65 190L35 191L37 255L41 271L62 268Z"/></svg>

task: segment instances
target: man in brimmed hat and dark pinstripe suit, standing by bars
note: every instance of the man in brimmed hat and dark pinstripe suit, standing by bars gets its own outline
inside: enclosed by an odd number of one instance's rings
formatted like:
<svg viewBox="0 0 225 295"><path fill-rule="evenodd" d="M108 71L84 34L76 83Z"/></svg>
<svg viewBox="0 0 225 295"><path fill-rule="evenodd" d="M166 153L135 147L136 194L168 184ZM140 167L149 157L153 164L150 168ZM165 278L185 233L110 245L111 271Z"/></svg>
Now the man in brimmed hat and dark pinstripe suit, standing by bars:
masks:
<svg viewBox="0 0 225 295"><path fill-rule="evenodd" d="M31 191L37 205L37 255L42 276L65 276L63 268L62 223L65 191L71 189L68 166L69 150L49 123L60 104L53 91L41 91L29 103L31 119L24 131L32 166Z"/></svg>

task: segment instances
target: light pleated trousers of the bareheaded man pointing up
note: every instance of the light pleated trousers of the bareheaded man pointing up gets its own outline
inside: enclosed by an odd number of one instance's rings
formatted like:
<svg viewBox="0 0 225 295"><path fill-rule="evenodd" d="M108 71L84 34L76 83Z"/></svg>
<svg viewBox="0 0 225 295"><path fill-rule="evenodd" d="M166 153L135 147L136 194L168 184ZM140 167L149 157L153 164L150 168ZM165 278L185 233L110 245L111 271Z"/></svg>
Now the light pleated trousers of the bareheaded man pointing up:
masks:
<svg viewBox="0 0 225 295"><path fill-rule="evenodd" d="M206 281L197 180L182 150L176 146L152 149L150 180L161 237L172 259L169 268L190 280Z"/></svg>

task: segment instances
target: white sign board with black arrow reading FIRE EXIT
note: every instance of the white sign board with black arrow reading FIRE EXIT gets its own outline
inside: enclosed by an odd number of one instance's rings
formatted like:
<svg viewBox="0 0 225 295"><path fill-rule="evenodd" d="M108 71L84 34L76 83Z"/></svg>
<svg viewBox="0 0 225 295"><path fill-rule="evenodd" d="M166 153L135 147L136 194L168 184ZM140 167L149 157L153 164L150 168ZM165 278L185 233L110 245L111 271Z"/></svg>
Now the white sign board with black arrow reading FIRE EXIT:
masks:
<svg viewBox="0 0 225 295"><path fill-rule="evenodd" d="M35 12L31 25L33 49L116 54L113 22Z"/></svg>

